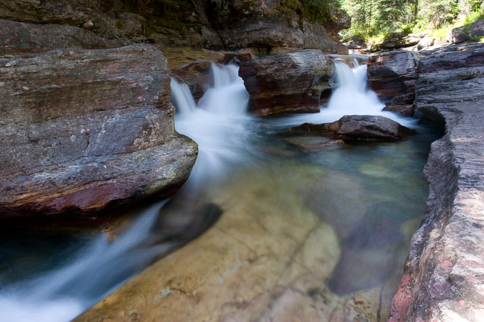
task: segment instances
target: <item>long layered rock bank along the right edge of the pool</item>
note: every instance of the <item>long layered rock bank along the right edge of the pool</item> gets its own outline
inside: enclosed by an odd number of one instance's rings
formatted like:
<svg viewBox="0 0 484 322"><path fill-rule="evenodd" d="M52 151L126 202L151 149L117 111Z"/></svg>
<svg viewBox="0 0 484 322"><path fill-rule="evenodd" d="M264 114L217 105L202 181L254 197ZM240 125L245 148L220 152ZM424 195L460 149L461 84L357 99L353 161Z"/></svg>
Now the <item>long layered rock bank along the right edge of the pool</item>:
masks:
<svg viewBox="0 0 484 322"><path fill-rule="evenodd" d="M417 108L446 132L431 145L427 210L389 321L481 321L484 314L483 57L479 44L420 60Z"/></svg>

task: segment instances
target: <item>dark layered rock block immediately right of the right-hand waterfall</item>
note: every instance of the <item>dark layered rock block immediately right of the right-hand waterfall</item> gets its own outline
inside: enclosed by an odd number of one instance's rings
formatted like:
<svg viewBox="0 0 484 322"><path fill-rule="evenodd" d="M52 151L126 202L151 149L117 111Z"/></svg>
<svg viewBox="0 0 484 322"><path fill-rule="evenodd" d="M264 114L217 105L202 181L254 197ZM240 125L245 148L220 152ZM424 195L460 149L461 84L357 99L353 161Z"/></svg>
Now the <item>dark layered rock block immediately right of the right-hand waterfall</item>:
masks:
<svg viewBox="0 0 484 322"><path fill-rule="evenodd" d="M393 51L369 58L367 66L368 85L391 110L413 115L415 83L420 54L408 51Z"/></svg>

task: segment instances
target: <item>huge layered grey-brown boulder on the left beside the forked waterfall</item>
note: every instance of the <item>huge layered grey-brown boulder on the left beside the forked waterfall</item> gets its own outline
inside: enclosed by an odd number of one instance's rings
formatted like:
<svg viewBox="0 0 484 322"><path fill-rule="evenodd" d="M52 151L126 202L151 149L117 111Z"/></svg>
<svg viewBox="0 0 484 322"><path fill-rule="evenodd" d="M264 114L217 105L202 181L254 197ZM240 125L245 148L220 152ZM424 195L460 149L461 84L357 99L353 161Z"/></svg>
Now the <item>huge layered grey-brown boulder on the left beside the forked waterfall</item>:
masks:
<svg viewBox="0 0 484 322"><path fill-rule="evenodd" d="M197 148L174 131L169 76L147 45L0 59L1 219L89 221L173 194Z"/></svg>

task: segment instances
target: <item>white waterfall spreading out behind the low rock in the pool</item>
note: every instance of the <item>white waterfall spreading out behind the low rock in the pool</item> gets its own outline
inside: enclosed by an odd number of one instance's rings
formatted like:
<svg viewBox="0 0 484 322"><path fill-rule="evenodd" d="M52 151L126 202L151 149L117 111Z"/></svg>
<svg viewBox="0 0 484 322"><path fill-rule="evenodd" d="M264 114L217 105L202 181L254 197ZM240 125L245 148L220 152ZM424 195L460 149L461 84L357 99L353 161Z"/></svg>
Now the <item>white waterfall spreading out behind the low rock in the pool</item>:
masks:
<svg viewBox="0 0 484 322"><path fill-rule="evenodd" d="M331 94L327 106L322 106L317 114L302 114L278 121L279 125L301 125L302 123L330 123L344 115L380 115L407 127L415 127L417 120L382 111L384 103L373 90L366 88L366 65L355 60L355 68L343 61L335 61L337 88Z"/></svg>

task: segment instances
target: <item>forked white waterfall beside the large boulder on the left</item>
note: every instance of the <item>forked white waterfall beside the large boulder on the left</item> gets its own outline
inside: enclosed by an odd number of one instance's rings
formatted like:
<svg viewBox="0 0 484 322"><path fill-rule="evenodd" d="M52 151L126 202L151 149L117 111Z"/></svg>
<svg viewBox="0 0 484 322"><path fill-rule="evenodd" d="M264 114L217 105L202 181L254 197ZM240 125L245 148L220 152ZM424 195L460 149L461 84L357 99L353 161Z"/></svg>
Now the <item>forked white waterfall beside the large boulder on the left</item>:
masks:
<svg viewBox="0 0 484 322"><path fill-rule="evenodd" d="M176 130L198 143L198 158L189 183L218 179L235 163L254 157L250 144L249 94L235 65L212 65L214 84L195 104L189 88L171 79L177 109ZM210 178L209 178L210 177Z"/></svg>

